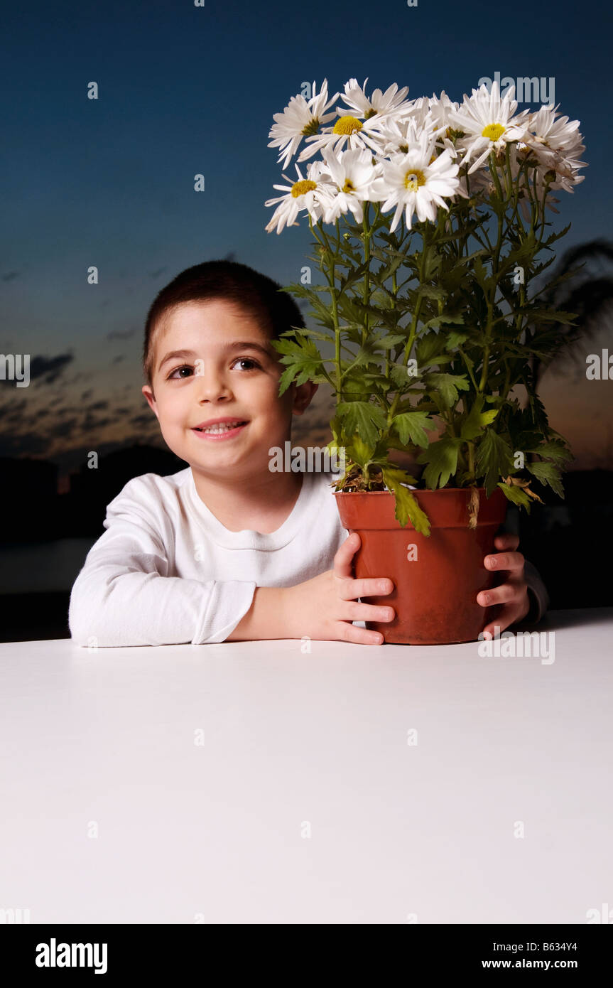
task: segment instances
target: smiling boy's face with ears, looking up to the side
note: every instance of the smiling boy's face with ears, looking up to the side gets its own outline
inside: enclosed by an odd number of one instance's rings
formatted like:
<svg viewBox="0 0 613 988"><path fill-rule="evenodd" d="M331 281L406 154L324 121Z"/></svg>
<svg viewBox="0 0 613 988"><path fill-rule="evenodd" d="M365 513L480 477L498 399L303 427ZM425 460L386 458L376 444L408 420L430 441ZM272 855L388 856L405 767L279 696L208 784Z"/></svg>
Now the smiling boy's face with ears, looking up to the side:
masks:
<svg viewBox="0 0 613 988"><path fill-rule="evenodd" d="M171 357L173 351L190 353ZM145 384L142 392L173 453L203 473L261 472L270 447L282 449L290 438L292 414L301 415L318 388L292 383L279 398L279 356L253 316L224 299L183 302L167 313L153 388ZM227 436L194 430L225 417L248 424Z"/></svg>

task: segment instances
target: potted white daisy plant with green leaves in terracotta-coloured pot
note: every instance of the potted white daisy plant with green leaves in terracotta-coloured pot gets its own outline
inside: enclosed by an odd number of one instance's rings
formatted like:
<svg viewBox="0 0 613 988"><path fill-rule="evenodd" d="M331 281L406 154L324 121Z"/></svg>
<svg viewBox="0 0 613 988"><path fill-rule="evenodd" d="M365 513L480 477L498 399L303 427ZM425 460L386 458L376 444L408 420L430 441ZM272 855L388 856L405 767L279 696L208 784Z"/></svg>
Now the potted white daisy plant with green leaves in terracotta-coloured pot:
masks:
<svg viewBox="0 0 613 988"><path fill-rule="evenodd" d="M582 180L584 147L577 121L551 106L517 113L498 82L462 105L444 92L408 100L396 85L367 98L365 85L350 79L335 115L339 94L313 84L269 132L285 166L302 148L297 179L283 176L266 204L267 229L306 212L323 275L309 284L307 269L307 284L283 288L309 300L321 328L275 342L279 394L292 380L333 389L329 450L345 455L334 486L344 527L361 536L355 575L396 588L369 599L393 603L394 622L367 626L387 642L469 641L484 626L475 598L494 585L483 559L507 502L529 511L539 485L564 497L574 458L533 364L575 332L573 313L543 302L555 281L542 276L569 229L550 229L546 209ZM419 481L394 451L423 467Z"/></svg>

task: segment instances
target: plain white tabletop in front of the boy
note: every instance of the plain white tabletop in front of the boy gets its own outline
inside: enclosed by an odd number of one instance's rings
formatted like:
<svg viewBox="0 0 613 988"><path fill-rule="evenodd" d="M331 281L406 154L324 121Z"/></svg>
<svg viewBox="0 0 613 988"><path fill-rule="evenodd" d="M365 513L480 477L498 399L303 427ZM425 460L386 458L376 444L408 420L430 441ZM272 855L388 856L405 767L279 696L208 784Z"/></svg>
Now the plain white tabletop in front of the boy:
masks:
<svg viewBox="0 0 613 988"><path fill-rule="evenodd" d="M613 608L539 631L548 658L0 645L0 909L586 923L613 906Z"/></svg>

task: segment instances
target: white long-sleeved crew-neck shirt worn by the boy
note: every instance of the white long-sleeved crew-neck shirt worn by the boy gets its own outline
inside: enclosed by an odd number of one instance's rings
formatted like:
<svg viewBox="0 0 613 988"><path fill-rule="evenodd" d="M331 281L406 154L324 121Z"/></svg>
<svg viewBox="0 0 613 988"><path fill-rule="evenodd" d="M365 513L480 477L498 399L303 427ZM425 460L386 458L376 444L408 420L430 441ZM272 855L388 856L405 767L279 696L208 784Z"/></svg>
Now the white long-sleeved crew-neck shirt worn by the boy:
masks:
<svg viewBox="0 0 613 988"><path fill-rule="evenodd" d="M224 641L249 611L256 587L292 587L334 567L349 533L333 480L330 473L305 472L292 511L269 534L226 529L198 495L189 466L129 480L109 504L107 531L73 584L73 641L99 647ZM525 573L528 619L539 620L547 591L527 561Z"/></svg>

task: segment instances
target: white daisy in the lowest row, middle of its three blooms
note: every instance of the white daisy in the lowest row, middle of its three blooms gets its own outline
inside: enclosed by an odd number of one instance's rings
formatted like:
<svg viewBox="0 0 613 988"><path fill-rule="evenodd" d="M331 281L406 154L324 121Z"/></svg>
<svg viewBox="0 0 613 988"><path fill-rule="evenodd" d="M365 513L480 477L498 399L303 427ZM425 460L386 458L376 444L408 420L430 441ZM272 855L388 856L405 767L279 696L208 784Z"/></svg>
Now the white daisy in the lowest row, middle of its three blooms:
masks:
<svg viewBox="0 0 613 988"><path fill-rule="evenodd" d="M372 184L381 174L380 166L372 163L372 153L359 148L338 155L329 153L325 156L322 173L331 179L322 187L324 221L335 223L342 212L351 211L355 222L361 223L362 205L370 200Z"/></svg>

